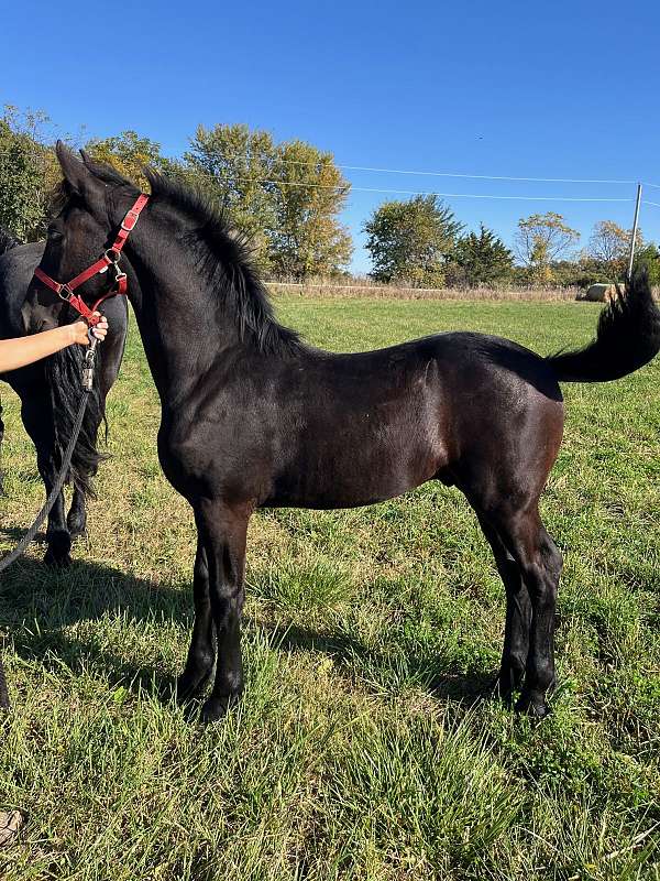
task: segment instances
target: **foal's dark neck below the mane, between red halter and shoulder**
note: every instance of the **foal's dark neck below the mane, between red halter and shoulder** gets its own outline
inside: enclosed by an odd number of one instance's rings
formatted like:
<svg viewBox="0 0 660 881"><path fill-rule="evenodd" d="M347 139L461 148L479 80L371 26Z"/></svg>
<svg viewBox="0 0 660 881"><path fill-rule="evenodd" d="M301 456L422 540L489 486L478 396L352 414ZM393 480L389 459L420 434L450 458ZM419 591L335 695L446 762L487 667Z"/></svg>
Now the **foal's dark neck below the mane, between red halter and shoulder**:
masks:
<svg viewBox="0 0 660 881"><path fill-rule="evenodd" d="M164 405L184 396L221 352L242 346L233 316L212 303L206 280L189 261L176 260L180 247L173 243L163 259L143 233L134 236L129 253L140 282L140 293L129 294Z"/></svg>

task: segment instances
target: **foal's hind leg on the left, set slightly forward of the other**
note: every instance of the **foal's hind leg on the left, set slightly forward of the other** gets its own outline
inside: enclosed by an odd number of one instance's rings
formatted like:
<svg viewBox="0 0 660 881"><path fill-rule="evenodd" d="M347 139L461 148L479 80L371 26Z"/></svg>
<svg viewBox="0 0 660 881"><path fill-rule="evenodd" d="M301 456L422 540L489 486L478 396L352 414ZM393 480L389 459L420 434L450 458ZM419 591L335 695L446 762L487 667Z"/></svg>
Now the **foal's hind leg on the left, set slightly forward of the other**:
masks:
<svg viewBox="0 0 660 881"><path fill-rule="evenodd" d="M479 515L481 527L495 556L495 565L506 590L506 620L504 627L504 649L502 665L497 677L501 697L508 701L514 692L519 690L525 677L529 651L529 626L531 603L527 585L522 580L520 567L507 551L497 531Z"/></svg>

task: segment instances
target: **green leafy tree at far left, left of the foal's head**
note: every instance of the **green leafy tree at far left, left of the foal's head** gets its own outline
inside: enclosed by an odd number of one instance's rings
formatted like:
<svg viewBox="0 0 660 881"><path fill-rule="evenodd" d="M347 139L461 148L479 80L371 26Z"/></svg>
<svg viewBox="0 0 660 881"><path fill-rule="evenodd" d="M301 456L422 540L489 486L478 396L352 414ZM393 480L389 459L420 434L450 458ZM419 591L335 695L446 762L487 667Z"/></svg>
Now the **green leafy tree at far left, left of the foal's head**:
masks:
<svg viewBox="0 0 660 881"><path fill-rule="evenodd" d="M57 163L44 143L44 113L7 106L0 118L0 224L24 241L41 238Z"/></svg>

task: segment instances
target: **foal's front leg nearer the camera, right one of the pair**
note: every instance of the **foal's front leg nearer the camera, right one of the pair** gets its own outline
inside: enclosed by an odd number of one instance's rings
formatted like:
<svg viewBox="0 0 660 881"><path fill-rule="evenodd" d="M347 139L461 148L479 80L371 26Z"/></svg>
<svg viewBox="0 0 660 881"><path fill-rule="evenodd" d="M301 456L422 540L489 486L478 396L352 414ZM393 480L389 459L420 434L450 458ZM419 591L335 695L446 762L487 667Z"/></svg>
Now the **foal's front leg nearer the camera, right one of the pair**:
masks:
<svg viewBox="0 0 660 881"><path fill-rule="evenodd" d="M199 539L209 567L209 602L216 627L216 679L201 709L204 721L223 716L243 690L241 611L245 570L245 537L252 504L205 501L196 508Z"/></svg>

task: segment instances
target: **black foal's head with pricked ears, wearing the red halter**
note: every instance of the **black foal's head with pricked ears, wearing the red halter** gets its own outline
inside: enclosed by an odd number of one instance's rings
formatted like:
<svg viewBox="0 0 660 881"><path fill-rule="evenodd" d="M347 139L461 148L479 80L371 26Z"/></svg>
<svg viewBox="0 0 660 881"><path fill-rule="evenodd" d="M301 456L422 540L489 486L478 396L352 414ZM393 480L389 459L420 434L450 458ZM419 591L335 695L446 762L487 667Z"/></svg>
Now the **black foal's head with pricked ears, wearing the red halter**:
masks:
<svg viewBox="0 0 660 881"><path fill-rule="evenodd" d="M68 282L110 248L123 215L140 191L109 166L92 162L82 151L82 161L61 142L56 152L64 181L59 209L48 225L40 269L57 282ZM128 274L129 284L136 285L134 271L123 253L121 270ZM116 270L110 265L108 271L81 284L76 295L91 307L112 287L114 279ZM76 317L79 316L66 300L36 278L32 280L23 306L28 333L66 324Z"/></svg>

